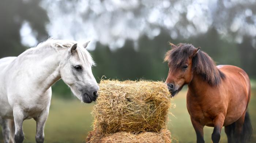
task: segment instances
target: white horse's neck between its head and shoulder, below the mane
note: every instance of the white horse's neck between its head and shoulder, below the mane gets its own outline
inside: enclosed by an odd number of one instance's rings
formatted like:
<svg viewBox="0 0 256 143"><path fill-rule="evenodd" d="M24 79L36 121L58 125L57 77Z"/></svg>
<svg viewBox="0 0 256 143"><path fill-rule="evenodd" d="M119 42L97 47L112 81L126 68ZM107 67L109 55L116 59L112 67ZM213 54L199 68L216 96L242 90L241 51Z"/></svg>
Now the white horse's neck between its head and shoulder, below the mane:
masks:
<svg viewBox="0 0 256 143"><path fill-rule="evenodd" d="M30 65L36 68L33 79L36 80L34 84L40 89L42 93L46 92L60 76L60 62L63 60L67 49L54 49L48 47L39 47L29 49L26 56L33 58Z"/></svg>

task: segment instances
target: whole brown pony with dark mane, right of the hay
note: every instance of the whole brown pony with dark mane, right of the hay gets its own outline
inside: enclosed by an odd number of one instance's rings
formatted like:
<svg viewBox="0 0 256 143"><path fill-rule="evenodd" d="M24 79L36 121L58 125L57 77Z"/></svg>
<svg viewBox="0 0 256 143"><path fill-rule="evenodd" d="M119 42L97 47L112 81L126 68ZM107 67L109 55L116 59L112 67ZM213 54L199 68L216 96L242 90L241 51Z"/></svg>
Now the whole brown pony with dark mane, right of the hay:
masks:
<svg viewBox="0 0 256 143"><path fill-rule="evenodd" d="M204 143L204 126L214 127L213 143L219 142L223 126L228 143L248 143L252 126L246 109L251 85L245 71L233 65L216 66L207 53L191 44L171 45L165 56L166 83L172 96L188 84L187 109L197 143Z"/></svg>

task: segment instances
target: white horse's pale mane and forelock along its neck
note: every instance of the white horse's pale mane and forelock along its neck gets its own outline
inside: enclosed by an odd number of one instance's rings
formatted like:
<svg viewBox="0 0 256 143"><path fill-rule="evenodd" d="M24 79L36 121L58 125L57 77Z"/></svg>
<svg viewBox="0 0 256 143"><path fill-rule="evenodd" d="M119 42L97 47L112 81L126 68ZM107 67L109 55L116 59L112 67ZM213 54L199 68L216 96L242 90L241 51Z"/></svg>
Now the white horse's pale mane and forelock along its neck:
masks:
<svg viewBox="0 0 256 143"><path fill-rule="evenodd" d="M90 64L91 66L95 66L95 62L93 61L93 58L91 57L90 53L83 47L82 44L79 44L77 41L73 40L58 40L54 38L49 38L48 40L39 43L35 48L40 48L40 47L50 47L53 49L60 49L60 48L65 48L68 49L72 45L78 44L76 51L78 53L79 59L83 61L84 65Z"/></svg>

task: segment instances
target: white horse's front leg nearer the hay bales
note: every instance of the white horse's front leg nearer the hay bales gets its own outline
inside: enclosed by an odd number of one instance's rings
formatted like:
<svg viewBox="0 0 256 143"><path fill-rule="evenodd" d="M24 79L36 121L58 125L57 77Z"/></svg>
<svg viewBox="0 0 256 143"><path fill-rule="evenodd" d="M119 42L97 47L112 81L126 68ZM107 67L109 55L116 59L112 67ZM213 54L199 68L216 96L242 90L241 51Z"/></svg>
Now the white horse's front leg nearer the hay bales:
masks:
<svg viewBox="0 0 256 143"><path fill-rule="evenodd" d="M38 118L35 118L35 121L37 122L37 133L35 135L35 141L37 143L44 143L45 135L44 135L44 127L45 122L49 114L49 108L42 111L41 114L38 116Z"/></svg>

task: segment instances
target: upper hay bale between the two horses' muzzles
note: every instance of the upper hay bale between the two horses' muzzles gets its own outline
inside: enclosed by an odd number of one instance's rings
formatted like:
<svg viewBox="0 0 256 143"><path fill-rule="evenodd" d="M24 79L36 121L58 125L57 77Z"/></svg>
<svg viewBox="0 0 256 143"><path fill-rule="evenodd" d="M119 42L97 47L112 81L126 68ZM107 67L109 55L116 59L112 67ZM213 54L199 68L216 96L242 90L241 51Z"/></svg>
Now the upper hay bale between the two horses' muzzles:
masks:
<svg viewBox="0 0 256 143"><path fill-rule="evenodd" d="M94 106L94 130L139 134L166 128L171 95L163 82L102 80Z"/></svg>

